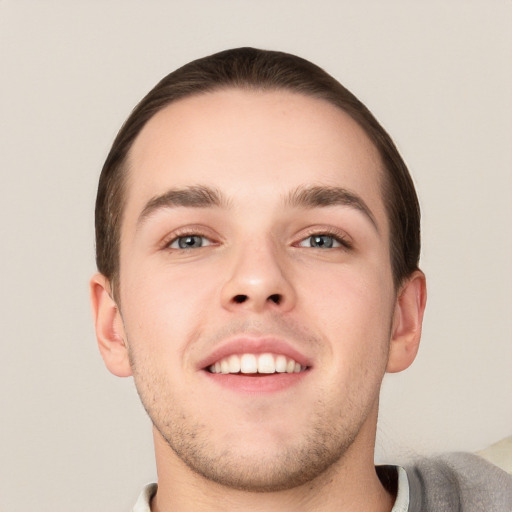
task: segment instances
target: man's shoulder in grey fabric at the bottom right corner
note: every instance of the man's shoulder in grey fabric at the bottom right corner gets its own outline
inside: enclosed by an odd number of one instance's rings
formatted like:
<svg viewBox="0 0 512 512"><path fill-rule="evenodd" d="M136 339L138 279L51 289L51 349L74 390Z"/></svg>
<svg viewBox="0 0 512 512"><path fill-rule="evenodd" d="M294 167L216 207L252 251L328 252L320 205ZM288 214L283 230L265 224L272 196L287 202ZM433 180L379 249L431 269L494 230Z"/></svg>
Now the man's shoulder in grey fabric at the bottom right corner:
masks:
<svg viewBox="0 0 512 512"><path fill-rule="evenodd" d="M449 453L406 466L410 512L512 511L512 476L470 453Z"/></svg>

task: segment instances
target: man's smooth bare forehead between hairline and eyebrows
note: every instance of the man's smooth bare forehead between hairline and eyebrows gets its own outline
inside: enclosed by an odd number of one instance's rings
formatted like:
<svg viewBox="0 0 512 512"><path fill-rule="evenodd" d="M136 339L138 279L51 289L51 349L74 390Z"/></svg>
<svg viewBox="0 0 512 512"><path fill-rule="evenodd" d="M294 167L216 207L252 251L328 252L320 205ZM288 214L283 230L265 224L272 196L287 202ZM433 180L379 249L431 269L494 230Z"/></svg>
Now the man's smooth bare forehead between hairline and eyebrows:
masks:
<svg viewBox="0 0 512 512"><path fill-rule="evenodd" d="M328 102L289 91L226 89L172 103L148 121L128 164L134 214L165 189L190 185L241 202L343 186L382 206L380 157L364 130Z"/></svg>

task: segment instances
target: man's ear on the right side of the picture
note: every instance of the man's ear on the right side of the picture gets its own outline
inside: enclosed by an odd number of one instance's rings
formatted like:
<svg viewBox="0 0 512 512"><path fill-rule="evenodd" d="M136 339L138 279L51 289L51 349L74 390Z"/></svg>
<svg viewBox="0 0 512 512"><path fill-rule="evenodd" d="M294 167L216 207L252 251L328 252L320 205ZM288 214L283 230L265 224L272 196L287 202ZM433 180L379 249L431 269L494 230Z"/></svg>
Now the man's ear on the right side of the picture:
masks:
<svg viewBox="0 0 512 512"><path fill-rule="evenodd" d="M396 299L387 372L401 372L414 361L420 345L426 302L425 274L417 270L401 286Z"/></svg>

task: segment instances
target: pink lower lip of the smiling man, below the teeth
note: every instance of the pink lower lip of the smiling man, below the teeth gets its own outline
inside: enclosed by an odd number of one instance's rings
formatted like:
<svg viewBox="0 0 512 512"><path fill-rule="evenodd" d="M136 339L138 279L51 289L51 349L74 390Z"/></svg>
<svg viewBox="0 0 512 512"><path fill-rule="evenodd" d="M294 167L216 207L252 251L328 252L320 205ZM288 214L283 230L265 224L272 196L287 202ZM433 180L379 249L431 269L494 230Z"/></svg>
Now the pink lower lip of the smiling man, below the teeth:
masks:
<svg viewBox="0 0 512 512"><path fill-rule="evenodd" d="M272 373L272 374L204 374L219 386L239 393L276 393L297 385L309 373Z"/></svg>

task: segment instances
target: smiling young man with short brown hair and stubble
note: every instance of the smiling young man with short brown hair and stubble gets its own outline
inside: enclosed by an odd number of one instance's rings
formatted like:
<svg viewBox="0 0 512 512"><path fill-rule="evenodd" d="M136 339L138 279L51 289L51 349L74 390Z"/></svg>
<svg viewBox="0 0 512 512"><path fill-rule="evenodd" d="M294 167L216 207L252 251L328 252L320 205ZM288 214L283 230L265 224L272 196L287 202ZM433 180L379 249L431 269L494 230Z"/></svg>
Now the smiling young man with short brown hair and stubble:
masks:
<svg viewBox="0 0 512 512"><path fill-rule="evenodd" d="M171 73L113 144L96 230L99 347L154 425L137 511L468 500L431 492L428 468L374 467L383 375L420 341L419 207L389 136L324 71L242 48Z"/></svg>

